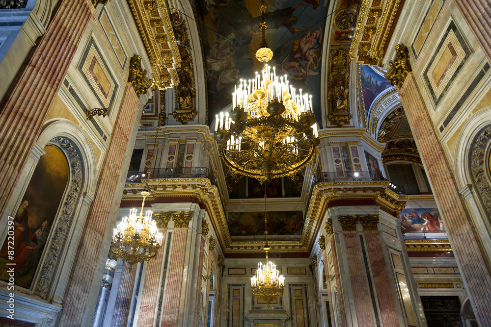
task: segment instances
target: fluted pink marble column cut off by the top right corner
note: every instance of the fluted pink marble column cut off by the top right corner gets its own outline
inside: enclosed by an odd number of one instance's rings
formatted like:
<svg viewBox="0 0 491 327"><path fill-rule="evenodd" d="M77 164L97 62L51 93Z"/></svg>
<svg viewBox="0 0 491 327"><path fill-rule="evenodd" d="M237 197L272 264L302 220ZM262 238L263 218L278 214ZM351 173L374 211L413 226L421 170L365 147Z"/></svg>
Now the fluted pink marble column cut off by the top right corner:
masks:
<svg viewBox="0 0 491 327"><path fill-rule="evenodd" d="M491 62L491 1L454 0Z"/></svg>

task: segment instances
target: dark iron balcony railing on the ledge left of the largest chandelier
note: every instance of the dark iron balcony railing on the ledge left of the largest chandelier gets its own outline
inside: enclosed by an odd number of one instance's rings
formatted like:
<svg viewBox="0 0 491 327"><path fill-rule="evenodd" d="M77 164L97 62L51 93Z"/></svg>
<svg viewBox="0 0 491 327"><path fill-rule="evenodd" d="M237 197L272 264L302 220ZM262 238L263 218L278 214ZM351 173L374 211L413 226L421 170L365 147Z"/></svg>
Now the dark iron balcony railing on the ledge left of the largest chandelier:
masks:
<svg viewBox="0 0 491 327"><path fill-rule="evenodd" d="M147 178L146 174L145 172L129 171L126 182L140 182ZM207 167L156 168L153 170L150 178L208 178L212 184L216 183L215 176Z"/></svg>

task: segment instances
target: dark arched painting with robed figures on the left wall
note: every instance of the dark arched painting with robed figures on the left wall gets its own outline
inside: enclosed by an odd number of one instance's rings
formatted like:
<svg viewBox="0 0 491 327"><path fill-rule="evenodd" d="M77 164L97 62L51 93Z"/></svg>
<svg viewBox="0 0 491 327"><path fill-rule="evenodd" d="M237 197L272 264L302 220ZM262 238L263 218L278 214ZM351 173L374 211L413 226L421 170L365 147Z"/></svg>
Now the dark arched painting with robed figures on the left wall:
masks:
<svg viewBox="0 0 491 327"><path fill-rule="evenodd" d="M8 280L7 263L15 263L15 283L29 288L55 224L55 217L70 175L61 150L48 145L27 185L14 216L14 255L8 255L8 239L0 251L0 279ZM11 245L11 244L10 244Z"/></svg>

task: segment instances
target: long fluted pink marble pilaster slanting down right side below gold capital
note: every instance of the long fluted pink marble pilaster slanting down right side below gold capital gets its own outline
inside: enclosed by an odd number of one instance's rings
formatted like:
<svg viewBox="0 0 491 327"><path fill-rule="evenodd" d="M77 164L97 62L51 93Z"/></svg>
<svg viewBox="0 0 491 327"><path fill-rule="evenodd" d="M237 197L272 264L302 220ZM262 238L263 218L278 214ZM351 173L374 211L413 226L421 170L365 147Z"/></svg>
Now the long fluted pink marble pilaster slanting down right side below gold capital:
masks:
<svg viewBox="0 0 491 327"><path fill-rule="evenodd" d="M489 7L487 10L490 10ZM458 192L452 169L412 72L406 77L399 95L426 173L432 182L438 209L444 217L446 231L476 318L481 326L491 326L490 258L483 250L479 231L472 223L464 199Z"/></svg>

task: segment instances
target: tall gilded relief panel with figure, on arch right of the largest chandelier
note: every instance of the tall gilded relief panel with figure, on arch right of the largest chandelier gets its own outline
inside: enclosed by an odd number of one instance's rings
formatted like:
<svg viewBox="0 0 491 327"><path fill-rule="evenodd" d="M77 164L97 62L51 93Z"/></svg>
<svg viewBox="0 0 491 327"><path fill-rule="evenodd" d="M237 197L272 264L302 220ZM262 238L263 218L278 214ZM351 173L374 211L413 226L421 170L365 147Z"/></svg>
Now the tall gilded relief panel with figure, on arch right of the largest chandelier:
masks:
<svg viewBox="0 0 491 327"><path fill-rule="evenodd" d="M349 102L350 60L347 49L331 50L329 54L329 91L327 119L343 127L352 118Z"/></svg>

